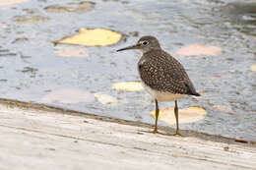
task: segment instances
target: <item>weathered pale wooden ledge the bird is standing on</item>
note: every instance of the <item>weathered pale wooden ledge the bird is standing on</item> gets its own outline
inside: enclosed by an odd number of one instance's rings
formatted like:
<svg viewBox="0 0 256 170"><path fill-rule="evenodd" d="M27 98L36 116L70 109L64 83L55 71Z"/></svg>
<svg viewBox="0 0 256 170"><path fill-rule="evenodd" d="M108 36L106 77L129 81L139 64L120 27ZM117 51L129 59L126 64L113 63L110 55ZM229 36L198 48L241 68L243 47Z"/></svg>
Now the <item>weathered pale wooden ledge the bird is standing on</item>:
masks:
<svg viewBox="0 0 256 170"><path fill-rule="evenodd" d="M160 130L163 135L149 133L148 124L2 100L0 169L256 169L254 142Z"/></svg>

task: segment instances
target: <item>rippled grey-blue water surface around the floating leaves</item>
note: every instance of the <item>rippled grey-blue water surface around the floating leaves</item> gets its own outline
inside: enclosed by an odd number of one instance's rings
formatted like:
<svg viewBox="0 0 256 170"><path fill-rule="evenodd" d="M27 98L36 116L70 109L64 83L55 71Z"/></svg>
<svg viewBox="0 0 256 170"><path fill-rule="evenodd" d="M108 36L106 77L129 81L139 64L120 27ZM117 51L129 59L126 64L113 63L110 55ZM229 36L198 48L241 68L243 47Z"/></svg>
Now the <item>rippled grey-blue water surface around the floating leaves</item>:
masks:
<svg viewBox="0 0 256 170"><path fill-rule="evenodd" d="M249 70L256 63L255 1L93 2L88 11L77 8L83 4L81 0L31 0L0 7L2 98L41 102L44 95L61 88L102 92L118 98L119 104L95 101L52 105L153 123L150 111L155 106L150 95L112 88L113 83L139 81L136 64L140 52L114 52L136 42L138 31L139 36L157 36L162 48L172 54L192 43L221 47L223 52L218 56L177 58L197 89L205 90L202 97L180 100L179 107L201 106L208 112L206 119L180 128L256 141L256 74ZM54 47L52 41L79 28L114 29L126 38L113 46L84 47L89 52L85 58L64 58L54 53L69 45ZM214 105L230 109L222 112ZM163 106L173 103L160 103Z"/></svg>

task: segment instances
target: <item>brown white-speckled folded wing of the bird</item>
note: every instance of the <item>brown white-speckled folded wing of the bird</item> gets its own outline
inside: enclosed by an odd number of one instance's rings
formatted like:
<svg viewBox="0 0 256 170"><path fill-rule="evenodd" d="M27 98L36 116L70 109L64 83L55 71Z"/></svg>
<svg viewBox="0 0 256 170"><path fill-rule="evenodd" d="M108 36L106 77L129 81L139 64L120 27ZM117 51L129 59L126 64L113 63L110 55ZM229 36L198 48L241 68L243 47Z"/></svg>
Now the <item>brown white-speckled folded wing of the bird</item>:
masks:
<svg viewBox="0 0 256 170"><path fill-rule="evenodd" d="M153 89L197 94L182 65L164 51L145 53L138 63L138 70L142 81Z"/></svg>

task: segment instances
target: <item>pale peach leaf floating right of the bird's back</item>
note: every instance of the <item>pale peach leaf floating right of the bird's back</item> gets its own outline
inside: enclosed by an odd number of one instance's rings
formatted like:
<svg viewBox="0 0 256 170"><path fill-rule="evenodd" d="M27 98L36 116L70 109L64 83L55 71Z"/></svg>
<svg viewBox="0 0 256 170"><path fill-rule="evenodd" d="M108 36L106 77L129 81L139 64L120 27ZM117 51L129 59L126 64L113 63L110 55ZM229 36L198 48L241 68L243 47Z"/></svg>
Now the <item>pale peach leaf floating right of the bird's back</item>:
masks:
<svg viewBox="0 0 256 170"><path fill-rule="evenodd" d="M198 55L219 55L222 52L222 48L217 46L210 46L204 44L192 44L181 47L174 54L175 56L198 56Z"/></svg>

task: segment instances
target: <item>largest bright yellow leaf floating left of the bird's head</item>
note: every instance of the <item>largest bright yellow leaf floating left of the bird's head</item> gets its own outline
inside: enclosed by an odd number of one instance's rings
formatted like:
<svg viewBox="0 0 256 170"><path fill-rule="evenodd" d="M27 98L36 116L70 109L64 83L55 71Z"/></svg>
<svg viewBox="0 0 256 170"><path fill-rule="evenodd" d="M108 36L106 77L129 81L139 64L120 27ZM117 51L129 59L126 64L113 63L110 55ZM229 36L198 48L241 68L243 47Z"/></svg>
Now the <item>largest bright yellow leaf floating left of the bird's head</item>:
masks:
<svg viewBox="0 0 256 170"><path fill-rule="evenodd" d="M122 35L113 30L103 28L80 28L79 33L65 37L55 44L66 43L86 46L106 46L112 45L120 41Z"/></svg>

